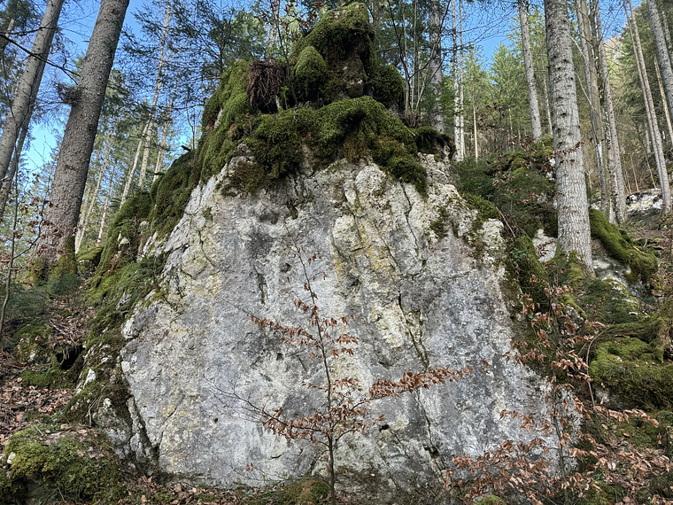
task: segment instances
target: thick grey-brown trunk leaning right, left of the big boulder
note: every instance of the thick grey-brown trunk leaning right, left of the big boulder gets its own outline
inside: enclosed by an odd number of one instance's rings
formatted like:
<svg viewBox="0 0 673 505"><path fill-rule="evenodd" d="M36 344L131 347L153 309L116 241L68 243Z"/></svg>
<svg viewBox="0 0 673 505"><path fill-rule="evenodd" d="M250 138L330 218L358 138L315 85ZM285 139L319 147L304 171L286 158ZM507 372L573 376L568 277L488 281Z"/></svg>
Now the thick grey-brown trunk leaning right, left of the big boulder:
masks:
<svg viewBox="0 0 673 505"><path fill-rule="evenodd" d="M98 118L128 1L102 0L100 4L96 26L81 66L81 81L77 87L79 96L70 111L58 153L50 206L45 209L35 249L43 263L42 275L50 271L57 260L63 260L62 271L77 268L73 234L80 217ZM58 268L53 273L58 274Z"/></svg>

